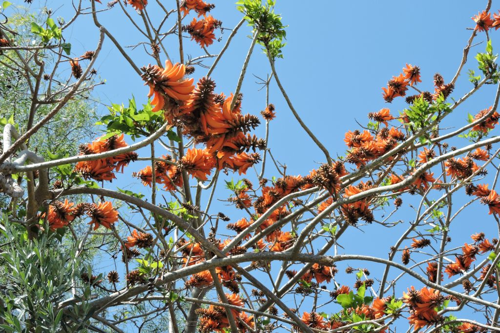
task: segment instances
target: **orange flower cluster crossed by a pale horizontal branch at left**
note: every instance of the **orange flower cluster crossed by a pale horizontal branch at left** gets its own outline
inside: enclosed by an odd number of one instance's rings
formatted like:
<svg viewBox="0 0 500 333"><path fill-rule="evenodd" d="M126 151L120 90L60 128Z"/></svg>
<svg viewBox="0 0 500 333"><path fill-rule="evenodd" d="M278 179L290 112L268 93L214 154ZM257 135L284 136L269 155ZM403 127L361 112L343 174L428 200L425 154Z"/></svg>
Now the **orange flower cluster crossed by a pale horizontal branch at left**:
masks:
<svg viewBox="0 0 500 333"><path fill-rule="evenodd" d="M92 143L80 145L80 155L103 153L126 146L123 134L120 136L113 135L107 139L98 138ZM74 167L74 171L81 173L85 179L112 181L116 178L114 172L120 169L123 172L123 168L135 160L137 160L137 153L131 151L98 160L78 162Z"/></svg>

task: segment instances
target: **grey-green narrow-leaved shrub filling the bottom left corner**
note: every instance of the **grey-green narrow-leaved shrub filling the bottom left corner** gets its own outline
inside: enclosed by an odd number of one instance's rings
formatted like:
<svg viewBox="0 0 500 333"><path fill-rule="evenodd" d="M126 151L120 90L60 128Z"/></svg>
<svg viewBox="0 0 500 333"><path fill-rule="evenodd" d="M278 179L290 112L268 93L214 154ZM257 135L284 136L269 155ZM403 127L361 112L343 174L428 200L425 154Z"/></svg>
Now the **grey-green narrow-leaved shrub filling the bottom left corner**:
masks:
<svg viewBox="0 0 500 333"><path fill-rule="evenodd" d="M0 238L9 240L0 257L0 281L5 286L0 293L4 332L64 332L63 327L71 332L81 330L65 325L65 316L71 314L58 307L78 279L75 272L79 259L74 250L64 250L55 234L42 233L38 239L28 241L23 228L9 224L5 216L2 220L5 228L0 229ZM87 319L85 299L89 296L90 291L84 288L83 298L73 307L73 315L82 322Z"/></svg>

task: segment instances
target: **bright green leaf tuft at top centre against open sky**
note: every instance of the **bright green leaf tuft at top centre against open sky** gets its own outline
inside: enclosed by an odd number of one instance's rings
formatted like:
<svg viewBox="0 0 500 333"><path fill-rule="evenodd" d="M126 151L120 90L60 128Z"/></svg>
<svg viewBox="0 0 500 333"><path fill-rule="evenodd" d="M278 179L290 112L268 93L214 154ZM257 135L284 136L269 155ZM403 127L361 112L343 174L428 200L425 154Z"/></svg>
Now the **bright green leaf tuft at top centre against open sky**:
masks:
<svg viewBox="0 0 500 333"><path fill-rule="evenodd" d="M264 53L267 51L272 59L283 58L281 49L286 45L286 27L281 23L281 15L274 13L274 0L266 0L262 4L261 0L240 0L236 2L236 8L245 16L248 25L258 29L257 42L264 46Z"/></svg>

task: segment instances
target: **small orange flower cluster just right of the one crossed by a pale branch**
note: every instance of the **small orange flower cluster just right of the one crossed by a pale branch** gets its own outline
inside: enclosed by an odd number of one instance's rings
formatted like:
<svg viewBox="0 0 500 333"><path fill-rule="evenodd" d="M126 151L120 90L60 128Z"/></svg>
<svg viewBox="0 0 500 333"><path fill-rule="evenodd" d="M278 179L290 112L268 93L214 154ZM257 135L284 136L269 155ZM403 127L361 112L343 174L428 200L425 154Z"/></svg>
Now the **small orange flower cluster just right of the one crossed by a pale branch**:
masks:
<svg viewBox="0 0 500 333"><path fill-rule="evenodd" d="M170 155L163 155L161 158L171 161L172 163L175 162ZM152 168L150 165L137 173L132 173L132 176L139 178L142 185L151 187ZM183 184L181 170L177 166L163 161L154 162L154 177L155 182L163 184L163 189L166 191L175 191L177 187L182 187Z"/></svg>

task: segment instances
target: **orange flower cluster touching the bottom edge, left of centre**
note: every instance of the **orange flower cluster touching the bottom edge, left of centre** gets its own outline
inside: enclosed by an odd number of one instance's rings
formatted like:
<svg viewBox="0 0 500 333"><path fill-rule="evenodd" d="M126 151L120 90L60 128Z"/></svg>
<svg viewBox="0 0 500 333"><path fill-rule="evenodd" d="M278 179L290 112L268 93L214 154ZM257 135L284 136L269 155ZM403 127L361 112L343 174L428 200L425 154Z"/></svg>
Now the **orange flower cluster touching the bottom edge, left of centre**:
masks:
<svg viewBox="0 0 500 333"><path fill-rule="evenodd" d="M227 303L233 306L242 307L243 301L239 298L237 294L225 294L227 298ZM234 318L234 323L238 328L238 332L245 333L247 328L242 325L239 320L244 322L249 327L253 327L253 316L248 316L244 312L240 312L235 309L230 309L232 317ZM200 316L199 319L199 332L226 332L229 328L229 319L223 307L210 305L207 309L197 309L196 314Z"/></svg>

